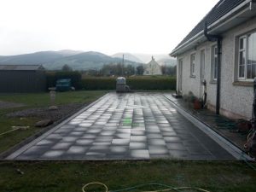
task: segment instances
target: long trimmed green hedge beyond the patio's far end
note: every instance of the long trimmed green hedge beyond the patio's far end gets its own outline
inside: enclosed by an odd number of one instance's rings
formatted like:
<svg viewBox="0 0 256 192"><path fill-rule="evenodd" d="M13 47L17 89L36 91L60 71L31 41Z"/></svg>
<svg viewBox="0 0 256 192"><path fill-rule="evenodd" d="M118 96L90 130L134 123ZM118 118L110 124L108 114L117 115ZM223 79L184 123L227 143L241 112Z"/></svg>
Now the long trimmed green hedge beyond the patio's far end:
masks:
<svg viewBox="0 0 256 192"><path fill-rule="evenodd" d="M175 78L127 78L131 90L176 90ZM114 78L82 79L84 90L115 90Z"/></svg>

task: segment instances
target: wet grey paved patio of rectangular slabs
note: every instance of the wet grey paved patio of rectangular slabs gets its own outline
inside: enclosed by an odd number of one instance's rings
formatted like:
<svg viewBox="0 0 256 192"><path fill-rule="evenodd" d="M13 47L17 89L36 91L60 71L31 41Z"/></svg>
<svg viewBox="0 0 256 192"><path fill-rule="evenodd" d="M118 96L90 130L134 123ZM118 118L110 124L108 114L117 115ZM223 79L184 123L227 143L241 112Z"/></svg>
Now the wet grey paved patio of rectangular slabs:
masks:
<svg viewBox="0 0 256 192"><path fill-rule="evenodd" d="M235 160L161 94L109 93L7 159Z"/></svg>

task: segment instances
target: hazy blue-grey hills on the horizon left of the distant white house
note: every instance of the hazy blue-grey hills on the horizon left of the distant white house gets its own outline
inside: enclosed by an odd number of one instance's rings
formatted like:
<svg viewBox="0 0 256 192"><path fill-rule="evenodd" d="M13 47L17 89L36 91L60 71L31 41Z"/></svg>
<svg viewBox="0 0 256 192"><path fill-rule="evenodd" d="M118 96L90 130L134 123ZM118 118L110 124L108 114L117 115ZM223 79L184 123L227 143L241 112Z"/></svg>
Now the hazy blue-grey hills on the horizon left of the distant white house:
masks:
<svg viewBox="0 0 256 192"><path fill-rule="evenodd" d="M122 62L121 58L113 58L99 52L82 52L76 50L42 51L25 55L0 56L0 65L43 65L49 70L59 70L68 65L73 70L100 69L103 65ZM135 67L139 63L125 58L125 65Z"/></svg>

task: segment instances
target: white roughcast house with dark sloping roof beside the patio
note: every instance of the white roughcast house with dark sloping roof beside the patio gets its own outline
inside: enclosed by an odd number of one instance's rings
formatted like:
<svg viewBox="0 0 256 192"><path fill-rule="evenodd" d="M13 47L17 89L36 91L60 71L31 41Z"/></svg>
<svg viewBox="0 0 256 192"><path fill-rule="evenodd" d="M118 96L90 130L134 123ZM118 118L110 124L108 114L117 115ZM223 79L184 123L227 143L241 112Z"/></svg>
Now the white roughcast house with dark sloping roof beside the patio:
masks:
<svg viewBox="0 0 256 192"><path fill-rule="evenodd" d="M172 50L179 94L191 91L202 98L207 93L207 108L233 119L252 118L255 5L253 0L219 1Z"/></svg>

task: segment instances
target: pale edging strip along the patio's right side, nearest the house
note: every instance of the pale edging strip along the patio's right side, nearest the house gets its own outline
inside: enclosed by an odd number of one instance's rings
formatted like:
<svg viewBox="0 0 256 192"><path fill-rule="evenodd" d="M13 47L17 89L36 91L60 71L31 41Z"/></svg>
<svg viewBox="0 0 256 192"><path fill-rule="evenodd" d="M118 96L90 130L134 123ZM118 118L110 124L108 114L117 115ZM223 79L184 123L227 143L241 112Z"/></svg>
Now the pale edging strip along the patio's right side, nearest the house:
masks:
<svg viewBox="0 0 256 192"><path fill-rule="evenodd" d="M165 96L163 94L163 96ZM172 102L167 96L166 99ZM230 143L227 139L220 136L216 131L213 131L211 127L201 122L200 119L197 119L194 115L186 112L183 108L179 108L175 102L172 102L173 107L177 109L177 112L181 113L186 119L188 119L192 124L197 126L201 131L207 134L208 137L211 137L213 141L218 143L222 148L232 154L236 160L250 160L254 161L249 155L245 154L240 148L237 148L233 143Z"/></svg>

